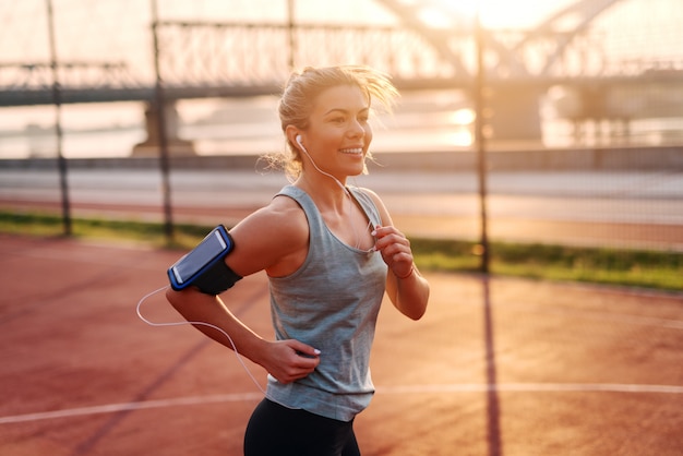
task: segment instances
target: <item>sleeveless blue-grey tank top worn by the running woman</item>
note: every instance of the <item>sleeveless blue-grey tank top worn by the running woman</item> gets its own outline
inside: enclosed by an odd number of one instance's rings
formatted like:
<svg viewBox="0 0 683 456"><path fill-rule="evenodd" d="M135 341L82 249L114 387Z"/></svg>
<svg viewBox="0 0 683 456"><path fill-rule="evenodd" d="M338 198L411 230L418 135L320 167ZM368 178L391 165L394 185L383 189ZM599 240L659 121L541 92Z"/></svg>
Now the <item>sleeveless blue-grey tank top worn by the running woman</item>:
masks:
<svg viewBox="0 0 683 456"><path fill-rule="evenodd" d="M349 189L372 226L381 224L374 202ZM370 348L384 296L386 264L379 252L340 241L325 225L313 200L287 185L309 221L309 252L297 272L271 277L271 313L278 340L298 339L321 350L305 379L281 384L268 375L267 397L285 407L350 421L370 404Z"/></svg>

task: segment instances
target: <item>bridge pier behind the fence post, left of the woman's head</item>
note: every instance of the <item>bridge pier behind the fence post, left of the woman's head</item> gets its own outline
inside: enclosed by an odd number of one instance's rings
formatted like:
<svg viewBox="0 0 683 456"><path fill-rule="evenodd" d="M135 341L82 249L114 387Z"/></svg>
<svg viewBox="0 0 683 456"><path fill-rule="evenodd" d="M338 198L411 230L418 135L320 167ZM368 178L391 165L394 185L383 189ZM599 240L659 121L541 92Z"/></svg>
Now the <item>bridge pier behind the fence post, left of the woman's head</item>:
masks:
<svg viewBox="0 0 683 456"><path fill-rule="evenodd" d="M168 154L171 157L196 155L192 141L178 137L180 118L173 101L167 101L164 105L164 119L166 121ZM133 146L132 155L134 157L158 157L160 143L159 117L156 104L148 103L145 105L145 128L147 130L147 139Z"/></svg>

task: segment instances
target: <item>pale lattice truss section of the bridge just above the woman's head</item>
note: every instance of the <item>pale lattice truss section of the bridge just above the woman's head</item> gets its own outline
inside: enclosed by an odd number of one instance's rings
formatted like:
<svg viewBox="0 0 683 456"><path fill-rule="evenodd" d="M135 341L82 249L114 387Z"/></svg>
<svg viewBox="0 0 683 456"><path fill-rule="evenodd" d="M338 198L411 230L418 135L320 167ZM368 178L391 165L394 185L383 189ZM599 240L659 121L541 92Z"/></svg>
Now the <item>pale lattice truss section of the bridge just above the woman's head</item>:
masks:
<svg viewBox="0 0 683 456"><path fill-rule="evenodd" d="M166 21L157 31L161 73L169 84L280 83L292 61L367 64L398 80L456 75L423 38L400 27Z"/></svg>

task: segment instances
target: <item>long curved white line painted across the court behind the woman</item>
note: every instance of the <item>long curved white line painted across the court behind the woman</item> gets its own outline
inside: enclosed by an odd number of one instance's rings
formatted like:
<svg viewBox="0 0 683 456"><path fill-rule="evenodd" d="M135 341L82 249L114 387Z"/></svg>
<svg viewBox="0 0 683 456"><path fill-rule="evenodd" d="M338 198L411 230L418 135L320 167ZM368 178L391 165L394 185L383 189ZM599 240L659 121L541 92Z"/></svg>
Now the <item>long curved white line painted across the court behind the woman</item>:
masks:
<svg viewBox="0 0 683 456"><path fill-rule="evenodd" d="M435 384L435 385L404 385L378 387L378 394L446 394L446 393L657 393L683 394L683 386L675 385L634 385L622 383L502 383L488 385L486 383L465 384ZM44 411L37 413L0 417L0 424L20 423L27 421L49 420L87 415L115 413L119 411L134 411L151 408L193 406L201 404L237 403L259 400L261 393L223 394L212 396L179 397L175 399L145 400L140 403L109 404L94 407L72 408L64 410Z"/></svg>

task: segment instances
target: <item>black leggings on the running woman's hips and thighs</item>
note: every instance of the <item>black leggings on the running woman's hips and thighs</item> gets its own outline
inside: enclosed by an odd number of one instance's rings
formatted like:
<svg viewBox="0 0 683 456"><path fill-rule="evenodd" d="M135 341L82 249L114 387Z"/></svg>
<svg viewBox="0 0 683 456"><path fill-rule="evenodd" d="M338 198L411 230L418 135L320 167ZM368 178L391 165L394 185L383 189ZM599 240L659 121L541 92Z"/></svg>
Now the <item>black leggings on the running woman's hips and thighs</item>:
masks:
<svg viewBox="0 0 683 456"><path fill-rule="evenodd" d="M344 422L263 399L244 434L244 456L360 456L354 421Z"/></svg>

